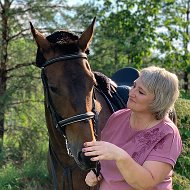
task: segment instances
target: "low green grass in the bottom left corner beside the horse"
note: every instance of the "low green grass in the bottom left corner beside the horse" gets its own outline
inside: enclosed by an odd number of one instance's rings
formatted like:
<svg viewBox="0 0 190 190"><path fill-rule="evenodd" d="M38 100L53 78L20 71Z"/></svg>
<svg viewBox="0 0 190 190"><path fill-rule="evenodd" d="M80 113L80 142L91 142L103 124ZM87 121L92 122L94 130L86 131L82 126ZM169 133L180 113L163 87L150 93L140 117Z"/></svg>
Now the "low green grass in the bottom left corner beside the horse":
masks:
<svg viewBox="0 0 190 190"><path fill-rule="evenodd" d="M6 163L0 169L1 190L49 189L46 152L36 153L22 165Z"/></svg>

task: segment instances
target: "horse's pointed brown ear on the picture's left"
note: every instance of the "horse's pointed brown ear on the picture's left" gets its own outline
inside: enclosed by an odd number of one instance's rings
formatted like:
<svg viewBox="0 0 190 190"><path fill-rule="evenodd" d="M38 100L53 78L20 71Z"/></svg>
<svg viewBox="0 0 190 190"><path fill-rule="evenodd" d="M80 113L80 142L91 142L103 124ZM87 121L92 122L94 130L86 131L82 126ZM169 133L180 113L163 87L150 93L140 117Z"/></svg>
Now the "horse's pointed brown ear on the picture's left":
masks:
<svg viewBox="0 0 190 190"><path fill-rule="evenodd" d="M30 28L38 47L42 48L42 50L47 49L50 46L48 40L43 36L42 33L40 33L38 30L34 28L31 22L30 22Z"/></svg>

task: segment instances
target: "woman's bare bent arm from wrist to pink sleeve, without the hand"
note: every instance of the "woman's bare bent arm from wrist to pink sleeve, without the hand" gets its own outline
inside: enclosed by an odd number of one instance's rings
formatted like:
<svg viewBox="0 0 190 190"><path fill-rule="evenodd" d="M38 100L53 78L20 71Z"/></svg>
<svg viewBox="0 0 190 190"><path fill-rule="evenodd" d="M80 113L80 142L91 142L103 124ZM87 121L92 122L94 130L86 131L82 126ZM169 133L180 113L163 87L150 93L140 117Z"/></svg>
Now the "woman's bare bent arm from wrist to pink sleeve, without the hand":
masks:
<svg viewBox="0 0 190 190"><path fill-rule="evenodd" d="M116 160L116 165L127 183L137 190L152 189L172 170L170 164L158 161L146 161L141 166L126 152Z"/></svg>

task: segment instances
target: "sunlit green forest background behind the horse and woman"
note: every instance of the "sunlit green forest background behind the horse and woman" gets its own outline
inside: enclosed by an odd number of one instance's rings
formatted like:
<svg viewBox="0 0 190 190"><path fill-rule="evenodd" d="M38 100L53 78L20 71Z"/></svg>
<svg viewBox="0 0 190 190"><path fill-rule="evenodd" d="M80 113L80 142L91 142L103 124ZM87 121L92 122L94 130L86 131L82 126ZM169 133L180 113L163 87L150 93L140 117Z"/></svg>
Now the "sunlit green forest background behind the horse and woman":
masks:
<svg viewBox="0 0 190 190"><path fill-rule="evenodd" d="M77 2L0 0L0 189L49 188L43 89L29 21L46 35L58 29L80 35L94 16L93 70L111 77L124 67L156 65L178 75L175 108L184 148L174 189L190 189L190 1Z"/></svg>

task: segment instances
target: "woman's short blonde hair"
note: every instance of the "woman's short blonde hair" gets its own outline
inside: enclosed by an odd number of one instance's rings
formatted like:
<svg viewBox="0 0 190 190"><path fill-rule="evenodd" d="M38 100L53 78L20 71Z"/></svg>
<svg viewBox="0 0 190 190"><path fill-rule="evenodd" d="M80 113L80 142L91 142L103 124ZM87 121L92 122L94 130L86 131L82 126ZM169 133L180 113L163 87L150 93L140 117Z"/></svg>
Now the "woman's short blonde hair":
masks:
<svg viewBox="0 0 190 190"><path fill-rule="evenodd" d="M155 98L150 110L156 119L163 119L179 96L179 81L174 73L160 67L147 67L140 72L143 85Z"/></svg>

